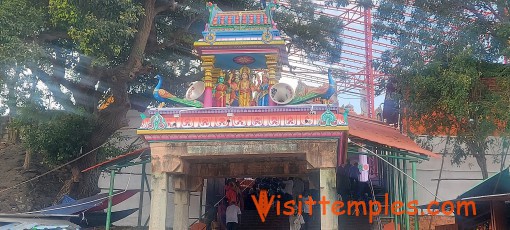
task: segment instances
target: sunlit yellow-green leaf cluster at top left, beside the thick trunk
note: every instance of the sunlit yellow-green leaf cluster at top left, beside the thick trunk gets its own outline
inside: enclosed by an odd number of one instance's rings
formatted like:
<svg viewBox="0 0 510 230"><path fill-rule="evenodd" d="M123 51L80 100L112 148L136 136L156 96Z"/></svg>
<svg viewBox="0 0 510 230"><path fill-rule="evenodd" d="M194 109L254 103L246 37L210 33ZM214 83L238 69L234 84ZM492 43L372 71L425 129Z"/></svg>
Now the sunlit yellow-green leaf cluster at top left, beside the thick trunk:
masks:
<svg viewBox="0 0 510 230"><path fill-rule="evenodd" d="M94 7L92 7L94 6ZM55 27L68 29L83 54L96 57L95 64L122 63L129 54L138 18L143 7L133 1L51 0L50 20Z"/></svg>

